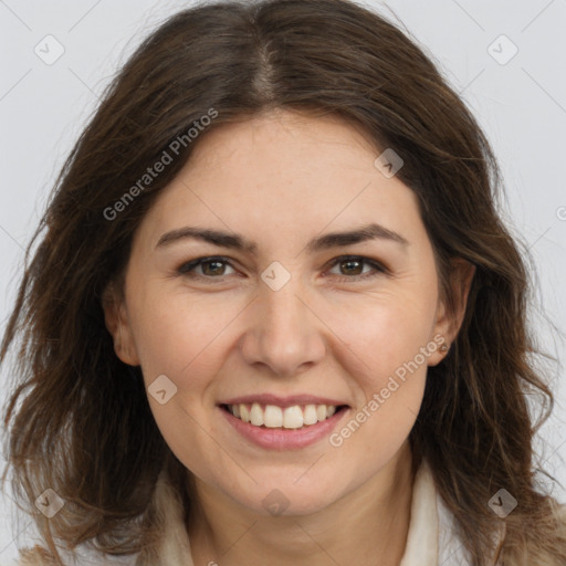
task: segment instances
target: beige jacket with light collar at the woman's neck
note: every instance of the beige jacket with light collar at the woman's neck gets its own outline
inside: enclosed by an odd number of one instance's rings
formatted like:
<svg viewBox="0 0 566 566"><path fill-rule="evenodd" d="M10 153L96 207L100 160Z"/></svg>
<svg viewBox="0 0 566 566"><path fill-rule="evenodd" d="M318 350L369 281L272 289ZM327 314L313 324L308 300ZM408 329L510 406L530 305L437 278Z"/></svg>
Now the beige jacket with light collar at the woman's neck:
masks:
<svg viewBox="0 0 566 566"><path fill-rule="evenodd" d="M164 472L159 476L155 497L164 533L157 564L149 565L140 556L101 562L101 558L88 557L85 554L80 555L76 562L70 560L69 565L195 566L182 520L182 506ZM566 507L563 510L566 512ZM503 536L504 532L497 533L495 539L501 541ZM437 493L430 468L423 462L415 479L409 533L400 566L469 566L471 562L467 554L455 534L453 517ZM53 563L36 546L22 552L18 564L48 566Z"/></svg>

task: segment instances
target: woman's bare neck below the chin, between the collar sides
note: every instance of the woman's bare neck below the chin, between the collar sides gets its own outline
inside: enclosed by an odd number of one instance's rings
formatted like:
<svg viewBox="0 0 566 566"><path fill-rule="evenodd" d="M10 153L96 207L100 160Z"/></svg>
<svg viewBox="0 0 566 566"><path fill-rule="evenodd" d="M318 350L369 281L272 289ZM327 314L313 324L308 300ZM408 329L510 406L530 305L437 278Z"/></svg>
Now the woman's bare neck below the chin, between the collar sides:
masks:
<svg viewBox="0 0 566 566"><path fill-rule="evenodd" d="M398 566L407 543L413 474L406 443L366 483L310 515L265 516L192 479L189 538L195 564Z"/></svg>

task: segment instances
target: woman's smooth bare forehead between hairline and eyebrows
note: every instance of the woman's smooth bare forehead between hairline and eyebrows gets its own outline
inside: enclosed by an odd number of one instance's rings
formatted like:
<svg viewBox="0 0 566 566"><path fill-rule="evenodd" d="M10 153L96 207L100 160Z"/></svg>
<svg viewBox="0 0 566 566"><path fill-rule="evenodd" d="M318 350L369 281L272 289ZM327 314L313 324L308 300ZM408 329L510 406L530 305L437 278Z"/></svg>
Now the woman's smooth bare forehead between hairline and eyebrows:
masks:
<svg viewBox="0 0 566 566"><path fill-rule="evenodd" d="M335 116L280 111L224 124L202 135L157 199L153 239L195 223L281 238L381 221L415 234L422 228L416 196L375 167L379 154Z"/></svg>

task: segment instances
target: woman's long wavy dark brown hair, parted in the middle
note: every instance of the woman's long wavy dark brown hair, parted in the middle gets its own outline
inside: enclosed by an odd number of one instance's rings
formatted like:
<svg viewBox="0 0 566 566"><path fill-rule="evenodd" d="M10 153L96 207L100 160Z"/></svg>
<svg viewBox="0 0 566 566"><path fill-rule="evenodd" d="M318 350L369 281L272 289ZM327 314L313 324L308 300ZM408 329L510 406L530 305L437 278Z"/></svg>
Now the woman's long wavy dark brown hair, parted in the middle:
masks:
<svg viewBox="0 0 566 566"><path fill-rule="evenodd" d="M535 484L533 436L553 396L532 360L521 244L495 210L496 160L423 52L344 0L202 3L160 25L107 88L28 248L1 346L6 361L21 338L4 409L20 504L56 556L60 543L111 554L155 543L157 475L164 462L174 476L185 470L157 429L139 367L114 353L103 292L119 286L137 226L193 147L273 108L340 116L374 140L376 157L388 147L402 157L397 175L418 197L449 308L450 260L475 265L458 338L429 368L411 447L430 462L474 566L493 552L502 520L488 502L500 489L517 500L503 520L505 564L566 564L555 502ZM164 151L171 161L145 178ZM527 394L539 397L539 419ZM45 486L66 501L49 521L33 505Z"/></svg>

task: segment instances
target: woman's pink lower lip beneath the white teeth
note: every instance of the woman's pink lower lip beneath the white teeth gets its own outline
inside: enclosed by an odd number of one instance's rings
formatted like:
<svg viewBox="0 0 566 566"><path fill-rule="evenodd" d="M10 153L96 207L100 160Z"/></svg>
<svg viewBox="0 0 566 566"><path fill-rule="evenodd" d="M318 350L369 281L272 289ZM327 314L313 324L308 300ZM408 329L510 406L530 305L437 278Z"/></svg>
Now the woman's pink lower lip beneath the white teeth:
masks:
<svg viewBox="0 0 566 566"><path fill-rule="evenodd" d="M270 450L294 450L314 444L331 434L338 420L348 411L347 408L342 408L326 420L303 427L302 429L270 429L255 427L249 422L237 419L232 413L221 407L218 407L218 409L242 437L261 448Z"/></svg>

